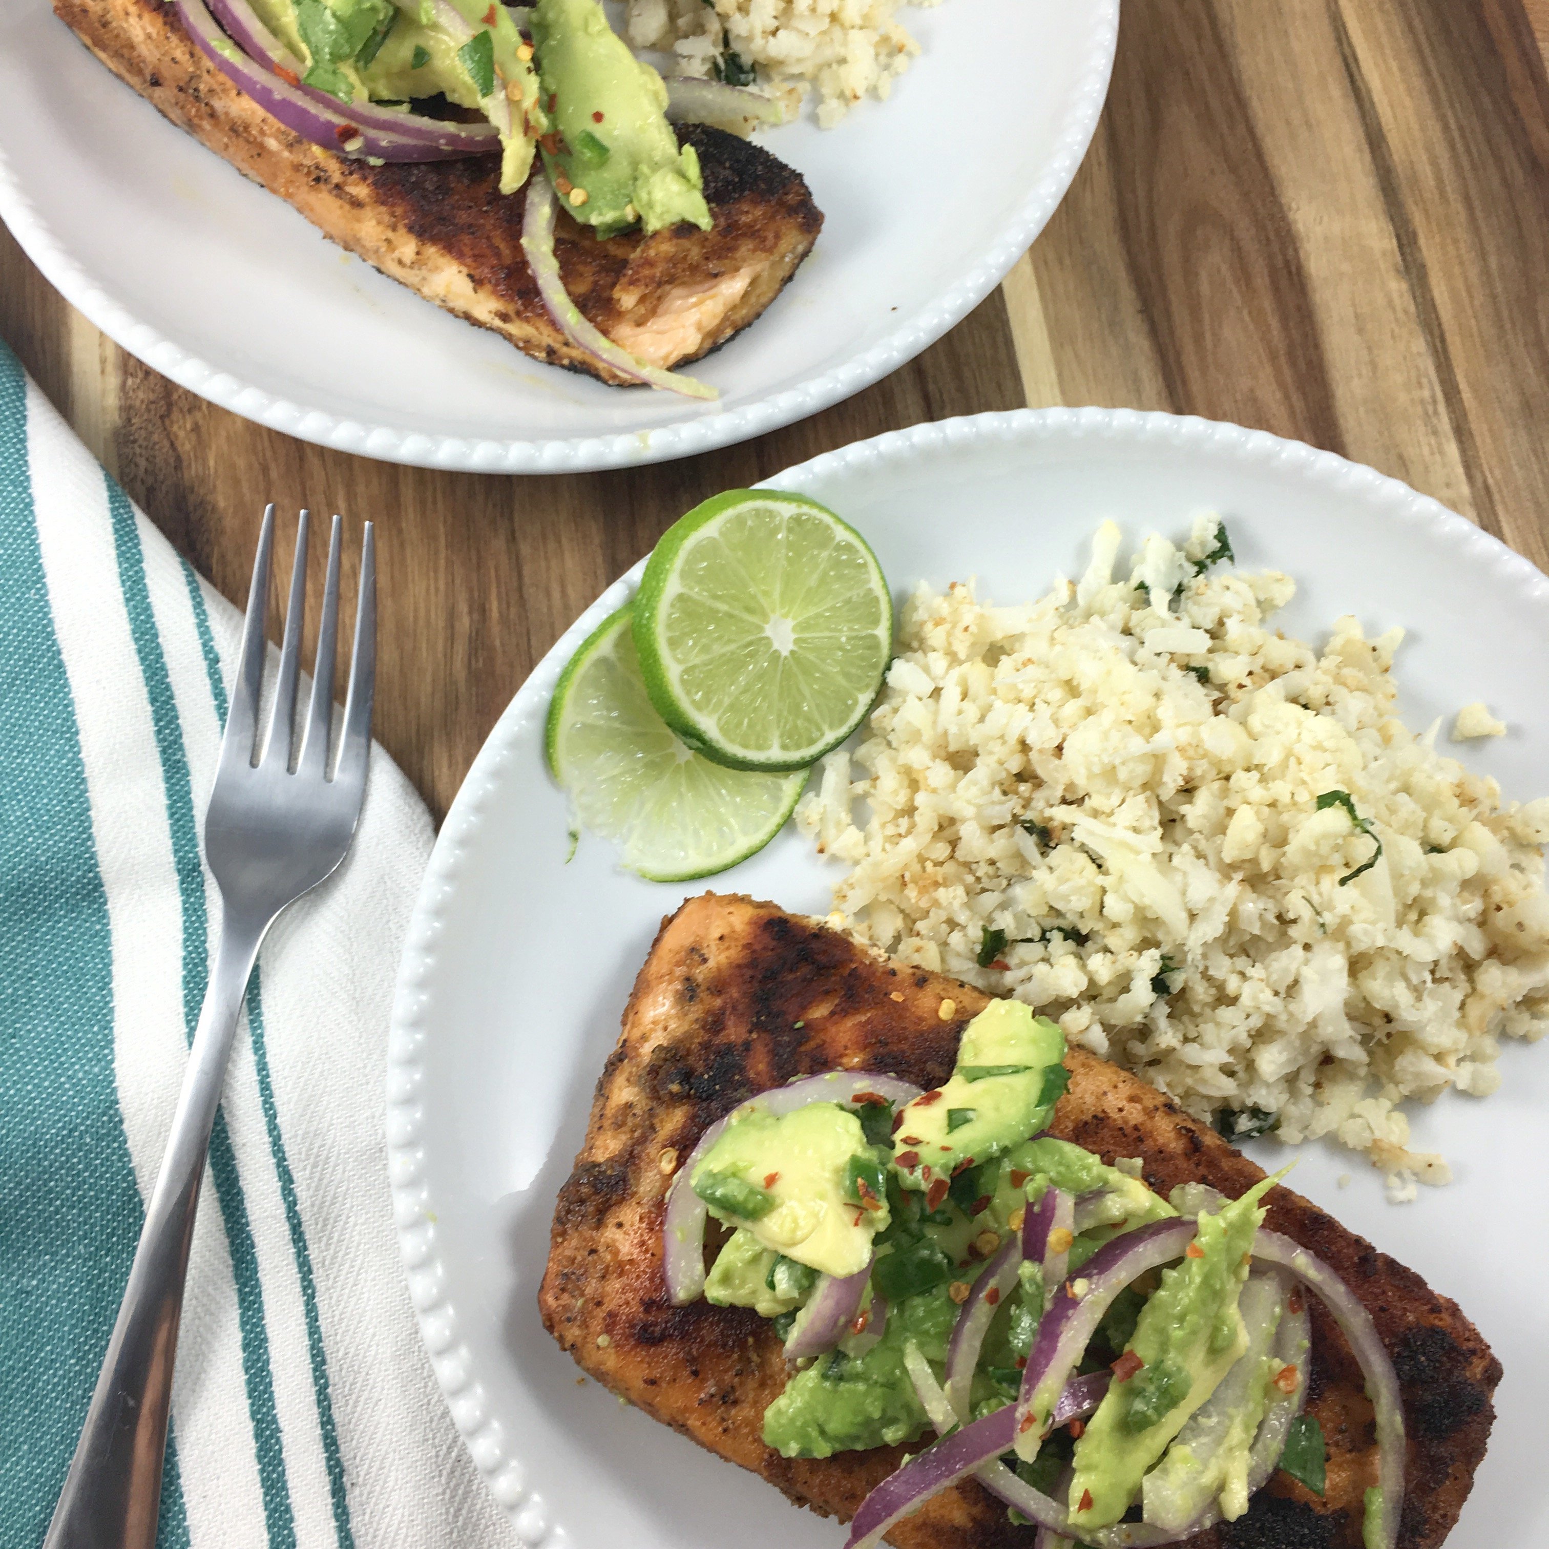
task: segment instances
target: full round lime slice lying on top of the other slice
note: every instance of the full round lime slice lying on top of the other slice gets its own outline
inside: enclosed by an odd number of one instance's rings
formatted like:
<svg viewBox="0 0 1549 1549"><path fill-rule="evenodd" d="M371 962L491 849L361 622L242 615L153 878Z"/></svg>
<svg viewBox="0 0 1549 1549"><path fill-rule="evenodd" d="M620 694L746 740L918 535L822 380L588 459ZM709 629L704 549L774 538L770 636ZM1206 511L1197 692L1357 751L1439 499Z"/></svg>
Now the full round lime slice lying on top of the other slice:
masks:
<svg viewBox="0 0 1549 1549"><path fill-rule="evenodd" d="M668 528L635 598L651 702L696 751L799 770L860 725L892 652L866 539L816 500L728 489Z"/></svg>

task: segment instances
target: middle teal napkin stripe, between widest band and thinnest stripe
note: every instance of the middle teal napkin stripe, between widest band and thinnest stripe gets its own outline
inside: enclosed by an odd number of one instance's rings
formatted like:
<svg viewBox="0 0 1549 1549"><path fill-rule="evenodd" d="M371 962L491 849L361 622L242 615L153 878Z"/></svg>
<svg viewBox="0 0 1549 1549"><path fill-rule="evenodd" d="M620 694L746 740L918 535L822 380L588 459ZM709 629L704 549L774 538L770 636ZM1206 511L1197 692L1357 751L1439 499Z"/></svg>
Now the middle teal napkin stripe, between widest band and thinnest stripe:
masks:
<svg viewBox="0 0 1549 1549"><path fill-rule="evenodd" d="M204 902L204 872L200 861L198 826L194 818L194 782L189 774L187 751L172 678L161 652L150 589L146 584L146 561L135 528L135 513L127 496L107 479L108 511L113 520L113 542L118 550L118 576L129 613L129 629L139 658L150 720L161 757L161 781L172 830L172 858L183 903L183 1019L187 1038L194 1038L204 985L209 979L209 915ZM209 1173L215 1197L226 1224L231 1247L231 1269L237 1286L237 1326L242 1335L242 1371L248 1389L248 1414L252 1422L252 1444L259 1465L259 1487L263 1492L263 1515L270 1549L296 1549L296 1521L291 1510L290 1484L285 1478L285 1450L280 1441L279 1413L274 1406L274 1372L270 1365L270 1331L263 1318L263 1286L259 1279L259 1255L248 1219L248 1202L237 1173L237 1156L231 1143L225 1108L215 1114L209 1140Z"/></svg>

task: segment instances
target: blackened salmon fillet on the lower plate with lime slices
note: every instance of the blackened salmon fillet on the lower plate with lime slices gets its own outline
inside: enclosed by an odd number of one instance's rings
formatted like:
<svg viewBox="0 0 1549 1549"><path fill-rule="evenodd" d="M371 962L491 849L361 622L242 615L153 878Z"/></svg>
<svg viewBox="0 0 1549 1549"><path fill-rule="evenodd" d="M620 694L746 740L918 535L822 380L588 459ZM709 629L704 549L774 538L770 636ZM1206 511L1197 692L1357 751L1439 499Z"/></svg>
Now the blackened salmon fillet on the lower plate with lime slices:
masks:
<svg viewBox="0 0 1549 1549"><path fill-rule="evenodd" d="M716 894L685 903L663 922L640 970L586 1145L559 1191L539 1290L545 1327L584 1371L647 1414L798 1504L850 1518L906 1448L787 1459L764 1445L764 1410L785 1385L781 1341L748 1309L668 1300L661 1219L671 1177L661 1157L686 1157L737 1103L796 1075L871 1069L939 1086L963 1027L985 1004L970 985L892 963L773 905ZM1066 1066L1070 1089L1052 1132L1109 1163L1139 1156L1146 1182L1163 1196L1199 1179L1235 1197L1264 1176L1117 1066L1080 1049ZM1287 1188L1275 1188L1267 1205L1266 1225L1332 1266L1377 1323L1397 1366L1408 1430L1400 1544L1434 1549L1484 1456L1499 1362L1451 1301L1315 1205ZM1376 1472L1371 1403L1343 1335L1309 1301L1309 1411L1329 1444L1326 1493L1320 1499L1276 1473L1245 1516L1188 1540L1196 1549L1360 1544L1362 1495ZM898 1549L1030 1549L1033 1529L1013 1526L1005 1507L970 1481L889 1537Z"/></svg>

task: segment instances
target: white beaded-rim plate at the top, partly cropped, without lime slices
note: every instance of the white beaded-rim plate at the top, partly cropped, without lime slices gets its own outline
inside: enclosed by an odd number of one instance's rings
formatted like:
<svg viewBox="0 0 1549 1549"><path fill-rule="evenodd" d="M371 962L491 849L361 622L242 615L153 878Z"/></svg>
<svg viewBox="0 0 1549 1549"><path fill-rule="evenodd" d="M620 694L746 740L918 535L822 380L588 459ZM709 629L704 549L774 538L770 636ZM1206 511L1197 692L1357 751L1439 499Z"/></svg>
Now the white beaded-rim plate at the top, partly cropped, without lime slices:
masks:
<svg viewBox="0 0 1549 1549"><path fill-rule="evenodd" d="M888 102L762 136L827 220L703 404L541 366L342 252L0 0L0 218L104 333L184 387L389 462L576 472L728 446L919 355L1042 231L1108 91L1118 0L945 0Z"/></svg>

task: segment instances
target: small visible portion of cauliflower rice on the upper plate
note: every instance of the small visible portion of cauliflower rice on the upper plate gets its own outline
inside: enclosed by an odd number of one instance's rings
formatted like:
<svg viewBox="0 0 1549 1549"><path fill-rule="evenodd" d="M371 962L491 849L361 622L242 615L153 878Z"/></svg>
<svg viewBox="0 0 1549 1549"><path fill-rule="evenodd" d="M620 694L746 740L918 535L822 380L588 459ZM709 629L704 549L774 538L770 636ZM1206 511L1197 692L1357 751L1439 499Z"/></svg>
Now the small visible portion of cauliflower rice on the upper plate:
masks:
<svg viewBox="0 0 1549 1549"><path fill-rule="evenodd" d="M939 0L911 0L937 5ZM818 91L829 129L867 93L886 98L920 51L894 20L898 0L629 0L624 26L635 48L677 56L677 73L717 76L730 50L757 68L757 85L793 113Z"/></svg>

